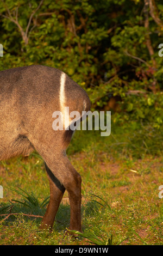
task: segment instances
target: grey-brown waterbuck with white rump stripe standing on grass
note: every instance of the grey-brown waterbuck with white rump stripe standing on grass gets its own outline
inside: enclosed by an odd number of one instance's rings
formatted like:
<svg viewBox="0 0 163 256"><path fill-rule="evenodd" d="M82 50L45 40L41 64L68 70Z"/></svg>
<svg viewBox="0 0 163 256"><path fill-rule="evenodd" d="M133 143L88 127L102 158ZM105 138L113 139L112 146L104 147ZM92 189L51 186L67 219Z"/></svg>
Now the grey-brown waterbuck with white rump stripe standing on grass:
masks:
<svg viewBox="0 0 163 256"><path fill-rule="evenodd" d="M81 118L83 111L90 110L85 90L64 72L42 65L0 72L0 160L28 156L36 150L45 161L50 188L41 228L53 227L67 190L71 213L69 229L82 231L82 179L66 156L73 130L68 127L54 130L52 127L53 112L63 113L65 106L70 112L78 111Z"/></svg>

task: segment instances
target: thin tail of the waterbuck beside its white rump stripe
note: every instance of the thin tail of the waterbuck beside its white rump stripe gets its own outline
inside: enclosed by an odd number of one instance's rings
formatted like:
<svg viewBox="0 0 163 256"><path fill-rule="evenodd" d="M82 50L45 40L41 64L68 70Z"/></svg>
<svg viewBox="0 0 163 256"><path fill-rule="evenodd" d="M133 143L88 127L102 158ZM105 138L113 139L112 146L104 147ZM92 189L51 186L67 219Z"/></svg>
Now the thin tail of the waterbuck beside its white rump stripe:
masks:
<svg viewBox="0 0 163 256"><path fill-rule="evenodd" d="M87 98L84 99L84 102L83 102L83 111L88 112L88 111L90 111L90 109L91 109L91 102L90 102L89 97L87 96ZM79 120L74 121L74 123L72 123L72 124L76 125L76 123L78 121L81 122L85 118L86 118L86 115L82 115ZM67 148L68 145L70 144L73 133L74 133L74 130L71 129L71 126L68 126L64 132L64 137L63 137L64 148Z"/></svg>

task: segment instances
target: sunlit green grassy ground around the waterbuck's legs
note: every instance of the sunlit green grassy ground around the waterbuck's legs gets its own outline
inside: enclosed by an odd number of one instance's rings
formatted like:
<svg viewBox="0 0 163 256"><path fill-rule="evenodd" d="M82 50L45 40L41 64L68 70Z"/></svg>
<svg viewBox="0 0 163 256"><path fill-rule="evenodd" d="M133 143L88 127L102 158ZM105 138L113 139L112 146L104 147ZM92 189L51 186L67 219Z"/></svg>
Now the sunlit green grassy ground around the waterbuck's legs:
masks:
<svg viewBox="0 0 163 256"><path fill-rule="evenodd" d="M64 235L70 223L67 192L52 233L39 229L41 217L26 216L46 211L49 185L41 157L1 162L0 245L162 245L162 137L148 130L113 124L109 137L75 133L67 154L83 180L83 234L77 239Z"/></svg>

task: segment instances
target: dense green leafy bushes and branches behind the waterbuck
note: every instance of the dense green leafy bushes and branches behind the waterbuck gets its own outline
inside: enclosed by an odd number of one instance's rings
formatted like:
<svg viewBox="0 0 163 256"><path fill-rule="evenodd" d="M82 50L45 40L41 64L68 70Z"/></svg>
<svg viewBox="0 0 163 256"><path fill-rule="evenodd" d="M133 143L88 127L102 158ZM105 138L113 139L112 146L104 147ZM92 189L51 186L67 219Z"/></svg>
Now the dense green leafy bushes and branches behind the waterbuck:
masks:
<svg viewBox="0 0 163 256"><path fill-rule="evenodd" d="M0 70L53 66L86 89L92 109L120 96L115 123L161 129L162 10L161 0L1 0Z"/></svg>

